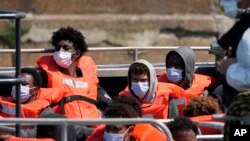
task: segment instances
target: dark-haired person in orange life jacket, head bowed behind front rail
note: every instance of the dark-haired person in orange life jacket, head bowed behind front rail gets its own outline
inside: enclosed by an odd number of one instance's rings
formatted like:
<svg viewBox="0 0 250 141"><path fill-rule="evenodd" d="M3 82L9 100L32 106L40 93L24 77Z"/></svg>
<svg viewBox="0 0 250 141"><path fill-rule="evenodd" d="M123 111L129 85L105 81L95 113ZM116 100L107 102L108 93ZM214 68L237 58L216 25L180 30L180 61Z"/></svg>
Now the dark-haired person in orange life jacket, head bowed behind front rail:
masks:
<svg viewBox="0 0 250 141"><path fill-rule="evenodd" d="M105 118L139 118L140 103L132 96L118 96L104 112ZM86 141L166 141L166 136L149 124L100 125Z"/></svg>

